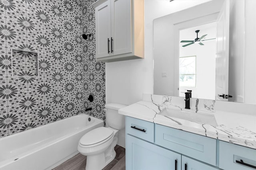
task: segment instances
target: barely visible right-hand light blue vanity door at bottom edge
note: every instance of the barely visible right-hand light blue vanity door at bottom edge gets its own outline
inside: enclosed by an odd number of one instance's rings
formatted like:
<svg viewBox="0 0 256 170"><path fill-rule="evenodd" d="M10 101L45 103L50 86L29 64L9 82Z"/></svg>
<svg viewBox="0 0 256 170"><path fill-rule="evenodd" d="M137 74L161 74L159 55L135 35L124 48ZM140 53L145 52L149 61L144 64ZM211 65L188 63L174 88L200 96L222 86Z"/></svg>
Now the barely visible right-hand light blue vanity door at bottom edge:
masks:
<svg viewBox="0 0 256 170"><path fill-rule="evenodd" d="M182 170L218 170L218 168L198 162L186 156L182 156L181 169Z"/></svg>

